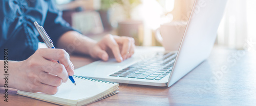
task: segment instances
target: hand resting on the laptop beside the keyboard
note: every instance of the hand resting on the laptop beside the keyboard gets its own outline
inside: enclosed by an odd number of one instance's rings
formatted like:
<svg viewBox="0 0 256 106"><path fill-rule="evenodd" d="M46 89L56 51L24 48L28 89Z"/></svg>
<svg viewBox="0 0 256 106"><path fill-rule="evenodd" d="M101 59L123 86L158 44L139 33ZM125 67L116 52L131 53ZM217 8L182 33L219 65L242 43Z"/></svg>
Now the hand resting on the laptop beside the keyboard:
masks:
<svg viewBox="0 0 256 106"><path fill-rule="evenodd" d="M100 58L104 61L107 61L110 56L114 55L117 62L122 62L134 54L134 49L133 38L108 34L91 47L89 54L93 58Z"/></svg>

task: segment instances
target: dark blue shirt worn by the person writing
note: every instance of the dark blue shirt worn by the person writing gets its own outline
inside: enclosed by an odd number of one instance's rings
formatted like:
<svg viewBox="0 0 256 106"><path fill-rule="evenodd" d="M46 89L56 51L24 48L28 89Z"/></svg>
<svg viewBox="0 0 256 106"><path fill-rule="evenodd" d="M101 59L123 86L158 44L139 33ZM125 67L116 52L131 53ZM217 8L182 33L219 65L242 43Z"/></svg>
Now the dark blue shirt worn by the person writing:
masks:
<svg viewBox="0 0 256 106"><path fill-rule="evenodd" d="M45 28L55 47L62 34L74 30L51 0L1 0L0 8L0 60L5 48L8 60L22 61L34 54L38 42L44 42L34 21Z"/></svg>

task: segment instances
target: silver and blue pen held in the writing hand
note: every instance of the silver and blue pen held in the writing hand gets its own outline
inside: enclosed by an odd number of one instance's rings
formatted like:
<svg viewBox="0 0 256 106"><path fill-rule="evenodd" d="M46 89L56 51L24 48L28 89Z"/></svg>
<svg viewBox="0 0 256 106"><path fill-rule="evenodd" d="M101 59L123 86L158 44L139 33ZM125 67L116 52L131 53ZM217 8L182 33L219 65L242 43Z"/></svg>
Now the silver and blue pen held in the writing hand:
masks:
<svg viewBox="0 0 256 106"><path fill-rule="evenodd" d="M48 34L46 33L45 29L42 28L42 26L40 26L36 21L34 22L34 25L36 26L36 30L38 31L39 35L41 36L42 40L44 40L44 42L46 43L48 48L55 48L53 46L53 42L50 39L50 37L48 36ZM59 61L57 61L59 63ZM76 85L75 80L73 78L73 76L69 76L69 79L71 80L71 82Z"/></svg>

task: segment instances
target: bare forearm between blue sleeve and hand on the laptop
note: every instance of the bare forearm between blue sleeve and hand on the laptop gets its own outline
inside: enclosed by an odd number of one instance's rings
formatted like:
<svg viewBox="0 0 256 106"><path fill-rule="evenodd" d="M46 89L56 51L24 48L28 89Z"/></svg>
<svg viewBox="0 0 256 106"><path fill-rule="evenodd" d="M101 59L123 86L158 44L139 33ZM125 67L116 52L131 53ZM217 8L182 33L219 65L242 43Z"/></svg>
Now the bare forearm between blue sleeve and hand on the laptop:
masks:
<svg viewBox="0 0 256 106"><path fill-rule="evenodd" d="M96 44L96 41L76 31L69 31L59 38L57 47L63 48L67 52L78 52L89 55L89 48L94 44Z"/></svg>

